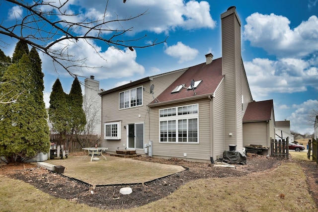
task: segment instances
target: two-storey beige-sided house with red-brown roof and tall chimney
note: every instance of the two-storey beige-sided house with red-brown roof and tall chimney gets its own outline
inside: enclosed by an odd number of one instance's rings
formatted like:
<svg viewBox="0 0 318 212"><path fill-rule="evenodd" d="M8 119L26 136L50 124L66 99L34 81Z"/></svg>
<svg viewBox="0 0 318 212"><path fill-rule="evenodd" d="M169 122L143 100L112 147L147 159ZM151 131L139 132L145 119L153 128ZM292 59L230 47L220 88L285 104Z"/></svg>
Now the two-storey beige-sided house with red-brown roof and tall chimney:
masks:
<svg viewBox="0 0 318 212"><path fill-rule="evenodd" d="M273 101L252 99L236 7L221 14L221 20L222 58L207 54L205 63L100 93L102 146L199 162L223 157L233 148L242 152L244 145L270 147ZM248 114L257 111L260 116Z"/></svg>

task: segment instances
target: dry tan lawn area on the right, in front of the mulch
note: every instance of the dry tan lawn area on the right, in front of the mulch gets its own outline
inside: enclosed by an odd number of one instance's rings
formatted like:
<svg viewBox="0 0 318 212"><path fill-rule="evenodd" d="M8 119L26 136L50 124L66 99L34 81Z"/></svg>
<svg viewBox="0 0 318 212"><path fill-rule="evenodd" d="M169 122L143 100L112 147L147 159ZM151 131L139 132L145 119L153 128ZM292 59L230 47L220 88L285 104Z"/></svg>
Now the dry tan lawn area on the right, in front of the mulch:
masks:
<svg viewBox="0 0 318 212"><path fill-rule="evenodd" d="M196 180L182 186L175 193L138 212L295 212L314 211L306 176L295 163L283 163L269 172L245 177Z"/></svg>

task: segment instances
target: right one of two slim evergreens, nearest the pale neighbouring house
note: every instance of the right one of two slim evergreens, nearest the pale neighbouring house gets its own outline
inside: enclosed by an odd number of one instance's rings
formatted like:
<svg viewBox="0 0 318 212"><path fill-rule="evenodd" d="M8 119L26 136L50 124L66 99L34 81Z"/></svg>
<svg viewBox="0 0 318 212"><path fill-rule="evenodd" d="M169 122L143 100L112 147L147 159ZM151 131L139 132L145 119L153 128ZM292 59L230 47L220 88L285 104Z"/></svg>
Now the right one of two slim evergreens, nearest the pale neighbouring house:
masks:
<svg viewBox="0 0 318 212"><path fill-rule="evenodd" d="M83 97L81 93L78 77L75 77L70 94L68 95L68 106L71 115L70 127L71 134L79 134L84 130L86 117L83 110Z"/></svg>

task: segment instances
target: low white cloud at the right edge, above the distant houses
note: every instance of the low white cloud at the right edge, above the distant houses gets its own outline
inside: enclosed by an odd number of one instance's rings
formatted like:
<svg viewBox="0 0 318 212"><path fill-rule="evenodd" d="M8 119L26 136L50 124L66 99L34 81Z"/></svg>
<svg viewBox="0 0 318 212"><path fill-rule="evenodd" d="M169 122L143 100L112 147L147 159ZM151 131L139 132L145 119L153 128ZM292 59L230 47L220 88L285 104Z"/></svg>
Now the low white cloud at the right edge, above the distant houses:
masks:
<svg viewBox="0 0 318 212"><path fill-rule="evenodd" d="M318 100L309 99L299 105L294 104L296 110L287 119L290 120L291 130L305 134L314 133L314 123L309 122L308 116L317 109Z"/></svg>

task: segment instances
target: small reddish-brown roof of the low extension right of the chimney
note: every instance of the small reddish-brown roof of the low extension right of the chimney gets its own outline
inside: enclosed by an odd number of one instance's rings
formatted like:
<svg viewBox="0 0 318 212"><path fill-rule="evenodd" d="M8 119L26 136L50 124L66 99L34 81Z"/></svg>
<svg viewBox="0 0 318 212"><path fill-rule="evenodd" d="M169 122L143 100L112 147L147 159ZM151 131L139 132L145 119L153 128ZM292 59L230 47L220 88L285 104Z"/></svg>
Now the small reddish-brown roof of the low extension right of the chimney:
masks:
<svg viewBox="0 0 318 212"><path fill-rule="evenodd" d="M273 100L249 102L243 117L243 122L268 121L271 119Z"/></svg>

